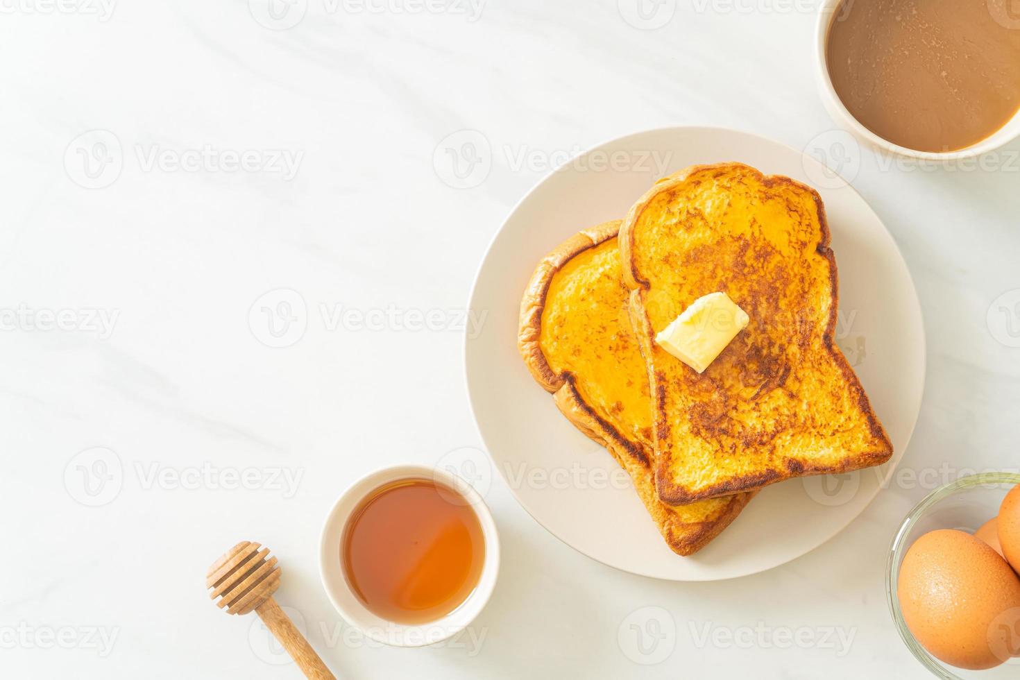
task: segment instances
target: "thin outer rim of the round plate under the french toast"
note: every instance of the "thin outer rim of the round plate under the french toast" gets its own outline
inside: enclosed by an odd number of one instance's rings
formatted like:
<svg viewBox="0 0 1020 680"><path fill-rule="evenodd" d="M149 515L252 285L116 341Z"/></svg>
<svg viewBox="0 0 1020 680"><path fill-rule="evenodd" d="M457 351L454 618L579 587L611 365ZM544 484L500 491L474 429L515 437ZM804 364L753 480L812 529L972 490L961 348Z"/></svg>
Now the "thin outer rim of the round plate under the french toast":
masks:
<svg viewBox="0 0 1020 680"><path fill-rule="evenodd" d="M481 277L481 273L482 273L483 269L486 268L486 264L488 263L490 257L493 255L494 248L496 246L496 242L499 241L499 239L502 236L503 231L507 228L507 225L510 223L511 219L517 213L517 211L521 208L521 206L523 206L528 201L528 199L531 198L531 196L534 193L537 193L540 189L542 189L542 187L550 179L550 177L552 177L553 175L555 175L557 172L560 172L564 167L567 167L570 163L574 162L577 158L581 158L583 156L586 156L588 154L591 154L593 151L595 151L597 149L601 149L603 147L607 147L607 146L614 145L614 144L621 144L623 142L626 142L626 141L630 140L631 138L635 138L635 137L640 137L640 136L645 136L645 135L655 135L655 134L691 134L691 133L698 133L698 132L711 133L711 134L737 135L737 136L756 138L759 141L763 141L763 142L765 142L767 144L771 144L771 145L774 145L774 146L777 146L777 147L782 147L783 149L786 149L786 150L793 152L797 156L801 157L802 161L806 159L809 163L814 163L814 164L820 165L822 167L825 167L823 163L821 163L820 161L812 158L811 156L809 156L808 154L806 154L803 150L798 150L798 149L789 146L788 144L784 144L782 142L778 142L778 141L773 140L773 139L771 139L769 137L765 137L763 135L758 135L756 133L750 133L750 132L747 132L747 130L744 130L744 129L737 129L737 128L733 128L733 127L717 126L717 125L661 125L661 126L658 126L658 127L648 127L648 128L644 128L644 129L639 129L636 132L633 132L633 133L628 133L626 135L621 135L621 136L613 137L613 138L610 138L610 139L605 140L603 142L600 142L599 144L595 144L593 146L586 147L583 151L581 151L577 155L572 156L571 158L567 159L563 164L559 165L558 167L553 168L549 172L546 172L544 175L542 175L542 177L540 177L531 186L531 188L528 189L520 197L520 199L513 205L513 207L511 207L510 210L507 211L506 216L503 218L503 221L500 224L499 228L496 229L496 232L493 234L492 239L490 239L490 241L489 241L489 244L486 246L486 251L482 254L481 259L478 262L478 265L475 267L474 276L473 276L473 278L471 280L471 287L470 287L470 292L468 293L468 299L467 299L467 309L468 309L468 311L470 312L471 310L474 309L475 296L477 295L477 289L478 289L478 280ZM517 502L517 505L519 505L524 510L524 512L526 512L531 517L531 519L533 519L539 524L539 526L541 526L543 529L545 529L552 536L556 537L556 539L559 540L564 545L569 546L570 548L572 548L576 553L584 556L585 558L588 558L588 559L590 559L590 560L592 560L594 562L597 562L597 563L599 563L601 565L604 565L606 567L609 567L610 569L613 569L613 570L616 570L616 571L620 571L620 572L623 572L623 573L627 573L627 574L633 574L635 576L641 576L641 577L645 577L645 578L655 579L655 580L658 580L658 581L667 581L667 582L676 582L676 583L707 583L707 582L715 582L715 581L734 580L734 579L738 579L738 578L746 578L746 577L749 577L749 576L755 576L757 574L762 574L762 573L771 571L773 569L777 569L779 567L782 567L784 565L789 564L790 562L794 562L794 561L799 560L799 559L801 559L801 558L803 558L803 557L805 557L807 555L810 555L811 553L814 553L818 548L822 547L823 545L825 545L826 543L828 543L829 541L831 541L837 535L839 535L840 533L843 533L847 529L847 527L849 527L858 518L860 518L860 516L864 513L864 511L866 511L871 506L871 504L874 503L875 499L878 496L878 493L881 492L882 488L887 484L888 480L896 473L896 470L899 467L900 462L906 457L907 451L910 448L910 442L914 438L914 432L917 429L917 423L920 420L921 407L924 404L924 393L925 393L925 388L927 386L927 378L928 378L928 370L927 370L927 366L928 366L928 335L927 335L927 331L925 329L925 323L924 323L924 309L921 307L921 300L920 300L920 297L917 294L917 285L914 282L914 275L911 272L909 265L907 264L906 258L904 258L904 256L903 256L903 251L900 248L900 244L897 243L896 238L892 236L892 232L889 231L888 227L885 225L885 222L881 219L881 217L878 216L878 213L876 213L874 211L874 208L871 207L871 204L868 203L867 200L865 200L865 198L861 195L861 193L858 192L857 189L855 189L854 186L851 182L847 181L838 173L835 174L835 177L838 179L838 182L839 182L838 186L830 188L827 191L850 190L853 193L853 195L855 197L857 197L857 199L861 202L861 204L868 211L871 212L871 214L874 216L875 220L881 225L882 229L885 231L886 236L888 236L889 241L892 244L892 249L895 251L896 257L899 260L900 264L903 265L904 270L907 272L907 278L908 278L908 281L910 283L910 291L909 291L909 293L911 294L910 295L910 300L912 301L912 303L913 303L912 307L914 308L914 310L916 311L917 316L918 316L919 328L920 328L920 337L921 337L921 345L920 345L920 348L919 348L919 350L920 350L919 355L920 355L920 362L921 362L921 365L922 365L923 369L921 371L921 379L920 379L920 386L919 386L920 387L920 389L919 389L919 391L920 391L920 400L918 401L917 411L913 415L912 423L910 425L909 431L907 432L907 434L906 434L906 436L904 438L904 443L903 443L903 447L901 448L900 455L897 456L897 455L894 454L892 459L886 464L888 466L888 469L887 469L886 473L884 475L882 475L882 477L881 477L881 479L879 481L879 484L876 487L875 492L871 495L870 499L868 499L867 503L865 503L863 506L861 506L861 509L855 515L853 515L852 517L850 517L846 522L844 522L842 524L842 526L839 526L837 529L835 529L828 538L822 540L817 545L815 545L815 546L813 546L811 548L808 548L807 551L805 551L804 553L801 553L800 555L790 556L789 558L787 558L784 561L779 562L777 564L774 564L774 565L771 565L771 566L765 566L765 567L762 567L762 568L759 568L759 569L754 569L752 571L742 572L742 573L738 573L738 574L730 574L730 575L726 575L726 576L718 576L718 577L712 577L711 575L706 575L704 577L688 577L688 576L687 577L673 577L673 576L665 576L665 575L660 575L660 574L652 574L652 573L648 573L648 572L642 572L642 571L639 571L639 570L628 569L626 567L621 567L621 566L618 566L618 565L609 564L608 562L605 562L604 560L601 560L601 559L599 559L599 558L597 558L597 557L595 557L593 555L590 555L590 554L585 553L584 551L582 551L579 547L577 547L576 545L572 544L570 541L568 541L566 538L564 538L563 536L561 536L557 532L553 531L545 522L543 522L534 514L534 512L531 511L531 509L524 502L524 500L521 499L520 494L518 493L518 489L514 488L514 485L511 484L510 480L508 480L506 478L505 473L503 472L502 468L500 467L500 465L496 461L496 458L494 457L494 455L493 455L493 453L491 451L491 447L489 446L489 441L486 438L486 433L482 431L481 426L480 426L479 421L478 421L478 413L477 413L477 408L475 406L475 396L474 396L474 394L472 393L472 389L471 389L471 379L470 379L469 367L468 367L468 361L469 361L468 360L468 345L471 342L471 338L468 337L468 332L465 330L465 332L461 334L461 343L462 343L462 346L461 346L461 352L462 352L461 358L462 358L462 361L463 361L463 378L464 378L464 385L467 388L468 408L470 409L470 412L471 412L471 420L474 422L475 431L478 433L478 437L481 439L481 442L482 442L482 444L486 448L486 456L489 458L489 461L493 465L493 467L495 467L495 468L497 468L499 470L500 477L503 478L504 483L506 483L507 487L510 489L510 492L513 495L514 501ZM681 559L681 558L679 558L679 556L678 556L678 559Z"/></svg>

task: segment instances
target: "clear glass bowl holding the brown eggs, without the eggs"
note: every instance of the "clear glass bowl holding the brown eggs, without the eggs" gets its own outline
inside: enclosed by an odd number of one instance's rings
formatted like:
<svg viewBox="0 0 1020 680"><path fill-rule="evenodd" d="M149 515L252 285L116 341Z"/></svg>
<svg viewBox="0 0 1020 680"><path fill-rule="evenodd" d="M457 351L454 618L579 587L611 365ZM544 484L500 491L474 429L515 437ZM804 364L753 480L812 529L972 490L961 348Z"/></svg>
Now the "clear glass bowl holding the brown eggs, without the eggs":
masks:
<svg viewBox="0 0 1020 680"><path fill-rule="evenodd" d="M1020 484L1020 474L1010 472L989 472L963 477L932 491L921 501L904 520L892 539L888 564L885 570L885 593L889 611L896 622L900 637L921 664L944 680L1002 680L1020 677L1020 658L1011 659L1002 666L987 671L966 671L949 666L921 646L907 628L900 611L897 584L900 581L900 565L914 541L923 534L936 529L960 529L973 533L982 524L999 515L1006 493Z"/></svg>

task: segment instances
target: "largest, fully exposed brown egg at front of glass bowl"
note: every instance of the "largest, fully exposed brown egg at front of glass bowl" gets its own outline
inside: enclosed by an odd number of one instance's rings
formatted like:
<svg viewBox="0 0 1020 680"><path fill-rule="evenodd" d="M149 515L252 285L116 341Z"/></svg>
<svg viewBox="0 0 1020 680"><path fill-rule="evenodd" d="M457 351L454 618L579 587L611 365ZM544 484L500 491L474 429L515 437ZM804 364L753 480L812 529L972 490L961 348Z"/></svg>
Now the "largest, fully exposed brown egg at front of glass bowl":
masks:
<svg viewBox="0 0 1020 680"><path fill-rule="evenodd" d="M898 589L907 627L933 657L977 671L1015 653L1020 578L984 541L953 529L924 534L903 559Z"/></svg>

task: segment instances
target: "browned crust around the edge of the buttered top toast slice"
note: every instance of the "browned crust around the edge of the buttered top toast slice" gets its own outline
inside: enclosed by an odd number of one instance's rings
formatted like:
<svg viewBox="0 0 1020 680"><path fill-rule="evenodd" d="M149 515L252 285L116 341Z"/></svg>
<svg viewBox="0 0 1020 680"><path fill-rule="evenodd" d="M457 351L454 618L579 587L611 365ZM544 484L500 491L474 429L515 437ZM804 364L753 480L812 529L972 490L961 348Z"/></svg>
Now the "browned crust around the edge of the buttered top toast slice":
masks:
<svg viewBox="0 0 1020 680"><path fill-rule="evenodd" d="M784 471L768 469L757 473L733 476L727 478L722 483L707 485L697 491L691 491L686 487L674 483L674 481L667 475L659 474L659 471L661 470L659 466L660 461L656 458L656 463L653 465L653 468L657 471L656 487L658 489L658 494L663 503L671 506L685 505L703 499L758 489L790 477L818 474L837 474L873 465L880 465L888 461L892 455L892 444L889 441L888 435L871 408L871 403L868 400L864 388L861 386L857 375L854 373L853 368L851 368L850 363L844 357L843 352L838 349L834 342L838 311L838 274L836 270L835 256L831 248L829 248L831 232L829 230L825 215L825 208L821 197L814 189L790 179L789 177L781 175L766 176L758 170L750 168L742 163L694 165L660 180L631 207L623 221L623 225L620 227L619 247L620 257L622 260L622 278L624 284L631 290L629 300L630 318L632 324L634 325L635 334L639 337L639 345L642 348L643 355L649 365L649 379L650 383L654 387L655 399L657 402L656 426L653 428L656 442L660 439L667 438L670 432L669 422L665 414L665 397L662 380L657 379L658 376L655 365L652 361L651 343L653 342L652 338L655 333L652 329L646 300L646 294L650 291L651 283L649 280L643 278L635 263L635 249L640 248L641 245L635 243L635 234L633 232L634 225L638 223L645 210L649 208L652 202L661 193L672 191L674 188L681 186L692 174L696 172L712 172L714 173L714 176L720 176L721 174L736 168L750 170L767 188L775 188L785 185L788 187L795 187L800 191L808 192L812 197L817 208L817 217L821 230L821 238L817 244L816 252L819 257L824 258L828 263L829 295L831 296L832 301L821 346L825 349L831 361L835 364L843 375L846 387L853 395L854 400L858 404L862 415L866 419L870 434L873 439L878 442L878 447L871 451L856 452L853 456L847 457L836 465L813 465L788 459L784 461ZM656 451L658 451L658 443L656 443ZM655 453L653 453L653 457L656 457Z"/></svg>

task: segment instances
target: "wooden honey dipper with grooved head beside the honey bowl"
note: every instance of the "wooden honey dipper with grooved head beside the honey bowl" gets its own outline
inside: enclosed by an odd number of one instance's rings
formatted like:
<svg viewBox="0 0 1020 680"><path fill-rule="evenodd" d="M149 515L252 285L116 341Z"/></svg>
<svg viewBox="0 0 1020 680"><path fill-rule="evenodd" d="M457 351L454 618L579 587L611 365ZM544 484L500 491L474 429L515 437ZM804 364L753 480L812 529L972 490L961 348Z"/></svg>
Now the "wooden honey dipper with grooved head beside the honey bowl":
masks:
<svg viewBox="0 0 1020 680"><path fill-rule="evenodd" d="M250 614L254 611L266 628L279 640L287 653L312 680L337 680L315 653L272 593L279 587L279 567L269 548L243 540L216 560L205 577L210 596L219 597L216 605L227 614Z"/></svg>

